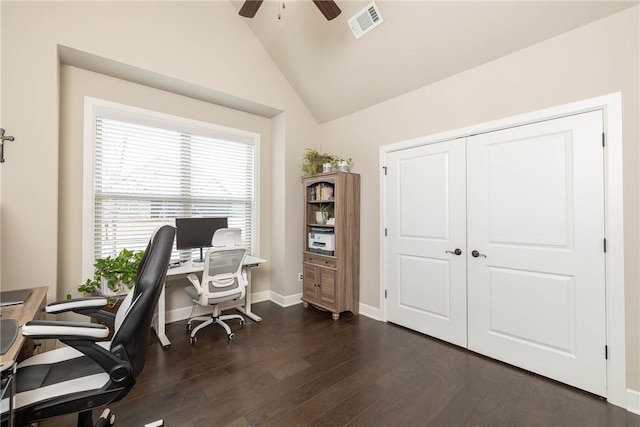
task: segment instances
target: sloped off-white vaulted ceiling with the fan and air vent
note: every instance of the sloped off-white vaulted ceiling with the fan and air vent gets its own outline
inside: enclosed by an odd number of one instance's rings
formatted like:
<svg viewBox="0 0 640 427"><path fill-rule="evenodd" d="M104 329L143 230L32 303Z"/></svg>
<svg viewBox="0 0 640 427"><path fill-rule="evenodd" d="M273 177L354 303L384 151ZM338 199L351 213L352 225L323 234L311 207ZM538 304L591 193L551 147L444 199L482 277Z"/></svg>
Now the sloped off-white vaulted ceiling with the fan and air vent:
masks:
<svg viewBox="0 0 640 427"><path fill-rule="evenodd" d="M231 0L238 10L242 1ZM365 109L638 4L638 1L377 0L384 22L355 39L369 1L265 1L243 18L319 123ZM268 84L268 82L265 82Z"/></svg>

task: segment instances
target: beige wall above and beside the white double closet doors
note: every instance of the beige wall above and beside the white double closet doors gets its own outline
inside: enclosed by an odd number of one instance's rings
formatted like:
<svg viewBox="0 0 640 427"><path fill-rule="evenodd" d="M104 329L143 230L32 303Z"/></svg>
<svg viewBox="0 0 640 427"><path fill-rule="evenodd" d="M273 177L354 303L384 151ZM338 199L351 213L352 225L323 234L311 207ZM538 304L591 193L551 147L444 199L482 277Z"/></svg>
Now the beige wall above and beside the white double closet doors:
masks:
<svg viewBox="0 0 640 427"><path fill-rule="evenodd" d="M379 301L379 147L622 92L627 386L640 390L639 19L628 9L538 45L326 123L327 151L362 174L361 303Z"/></svg>

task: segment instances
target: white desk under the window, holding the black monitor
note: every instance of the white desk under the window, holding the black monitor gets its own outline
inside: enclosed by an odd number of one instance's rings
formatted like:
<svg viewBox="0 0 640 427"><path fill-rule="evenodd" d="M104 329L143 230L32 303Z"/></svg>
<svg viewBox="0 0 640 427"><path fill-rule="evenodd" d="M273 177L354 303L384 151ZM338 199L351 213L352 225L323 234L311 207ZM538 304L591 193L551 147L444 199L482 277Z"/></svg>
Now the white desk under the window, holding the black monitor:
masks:
<svg viewBox="0 0 640 427"><path fill-rule="evenodd" d="M251 269L260 266L260 264L267 262L266 259L258 258L255 256L247 255L244 260L244 272L247 275L247 289L244 294L244 306L237 307L236 309L253 320L254 322L260 322L262 318L257 314L251 311ZM186 262L179 267L169 268L167 271L167 277L171 277L172 279L178 279L179 276L187 277L189 273L199 273L204 269L204 262ZM165 284L166 285L166 284ZM151 327L156 331L156 335L158 336L158 340L164 348L167 348L171 345L171 341L167 338L165 323L166 323L166 313L165 313L165 287L162 287L162 292L160 293L160 298L158 299L158 308L157 315L151 324Z"/></svg>

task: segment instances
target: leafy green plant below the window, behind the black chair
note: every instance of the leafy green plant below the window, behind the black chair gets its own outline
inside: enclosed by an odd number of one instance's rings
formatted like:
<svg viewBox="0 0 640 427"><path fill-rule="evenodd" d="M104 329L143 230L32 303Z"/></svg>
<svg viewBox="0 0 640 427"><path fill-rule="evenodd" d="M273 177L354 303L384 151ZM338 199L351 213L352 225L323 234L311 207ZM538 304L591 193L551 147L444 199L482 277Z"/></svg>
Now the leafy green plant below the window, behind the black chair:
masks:
<svg viewBox="0 0 640 427"><path fill-rule="evenodd" d="M122 295L126 295L137 279L138 265L142 259L143 251L130 251L122 249L114 257L97 259L93 279L87 279L78 286L78 291L84 294L104 295L115 303ZM67 294L67 299L71 295Z"/></svg>

